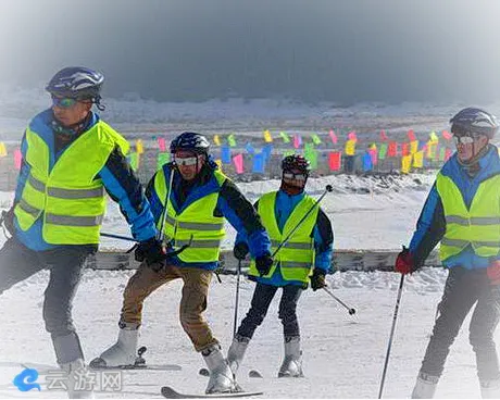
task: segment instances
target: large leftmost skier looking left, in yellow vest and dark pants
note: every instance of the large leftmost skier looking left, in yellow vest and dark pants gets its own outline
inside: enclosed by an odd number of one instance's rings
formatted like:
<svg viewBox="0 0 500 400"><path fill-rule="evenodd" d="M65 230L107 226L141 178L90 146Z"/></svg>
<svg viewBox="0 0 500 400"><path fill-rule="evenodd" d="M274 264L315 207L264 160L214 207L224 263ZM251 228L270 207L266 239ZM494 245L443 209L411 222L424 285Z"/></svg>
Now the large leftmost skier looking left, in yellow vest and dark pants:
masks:
<svg viewBox="0 0 500 400"><path fill-rule="evenodd" d="M103 110L103 80L87 67L65 67L52 77L46 88L52 107L24 134L14 205L2 215L12 237L0 250L0 293L49 268L43 320L71 398L92 395L75 389L85 363L72 302L84 262L99 245L104 189L120 202L148 262L163 257L150 205L124 155L128 143L91 111L92 104Z"/></svg>

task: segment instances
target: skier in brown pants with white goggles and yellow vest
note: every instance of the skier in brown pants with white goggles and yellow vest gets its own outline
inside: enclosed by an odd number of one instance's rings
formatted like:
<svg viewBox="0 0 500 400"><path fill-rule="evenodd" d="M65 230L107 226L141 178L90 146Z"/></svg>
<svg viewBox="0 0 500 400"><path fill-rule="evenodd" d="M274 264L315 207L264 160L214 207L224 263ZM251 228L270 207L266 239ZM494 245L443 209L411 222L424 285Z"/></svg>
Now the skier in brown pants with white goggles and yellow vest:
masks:
<svg viewBox="0 0 500 400"><path fill-rule="evenodd" d="M151 178L147 197L158 227L161 229L164 224L170 250L190 246L170 258L166 264L139 266L125 288L118 339L92 361L92 365L133 365L145 299L167 282L180 278L184 280L180 324L209 367L207 393L237 390L218 340L203 318L212 273L218 265L224 217L249 238L259 268L268 271L273 260L270 238L259 215L217 168L209 157L209 147L202 135L189 132L179 135L171 143L174 162L164 164ZM140 260L140 252L136 257Z"/></svg>

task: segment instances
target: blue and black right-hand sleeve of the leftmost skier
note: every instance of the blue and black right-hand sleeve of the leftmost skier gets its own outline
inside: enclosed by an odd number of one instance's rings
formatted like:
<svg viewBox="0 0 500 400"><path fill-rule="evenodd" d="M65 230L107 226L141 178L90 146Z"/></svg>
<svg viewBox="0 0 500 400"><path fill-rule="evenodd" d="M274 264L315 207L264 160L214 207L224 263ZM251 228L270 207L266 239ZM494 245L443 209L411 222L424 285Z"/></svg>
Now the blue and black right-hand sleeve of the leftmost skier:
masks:
<svg viewBox="0 0 500 400"><path fill-rule="evenodd" d="M149 201L139 179L118 147L110 154L99 176L108 195L120 204L120 210L130 225L134 238L145 241L154 237L157 228Z"/></svg>

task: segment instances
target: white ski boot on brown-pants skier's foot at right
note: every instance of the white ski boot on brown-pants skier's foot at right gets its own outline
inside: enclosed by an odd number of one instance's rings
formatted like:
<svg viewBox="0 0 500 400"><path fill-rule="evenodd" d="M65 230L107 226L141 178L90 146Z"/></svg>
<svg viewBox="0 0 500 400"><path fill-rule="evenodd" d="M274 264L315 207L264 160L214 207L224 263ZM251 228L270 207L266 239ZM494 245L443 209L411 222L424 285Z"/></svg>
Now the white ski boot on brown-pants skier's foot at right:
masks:
<svg viewBox="0 0 500 400"><path fill-rule="evenodd" d="M210 371L209 385L207 385L207 395L212 393L227 393L237 391L237 386L233 377L233 372L224 359L218 345L203 350L201 352L207 366Z"/></svg>

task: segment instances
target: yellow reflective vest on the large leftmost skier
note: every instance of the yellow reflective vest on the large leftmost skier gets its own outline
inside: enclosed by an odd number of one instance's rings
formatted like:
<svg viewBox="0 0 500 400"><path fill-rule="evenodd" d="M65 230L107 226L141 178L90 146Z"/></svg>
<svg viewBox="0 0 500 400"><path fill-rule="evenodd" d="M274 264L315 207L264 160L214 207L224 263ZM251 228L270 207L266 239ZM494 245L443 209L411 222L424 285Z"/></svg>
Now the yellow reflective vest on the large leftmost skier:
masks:
<svg viewBox="0 0 500 400"><path fill-rule="evenodd" d="M42 127L43 128L43 127ZM105 212L104 187L96 175L120 146L128 142L99 121L76 138L49 172L49 146L36 125L26 129L26 163L29 175L14 213L22 230L28 230L41 214L42 237L51 245L96 245Z"/></svg>

